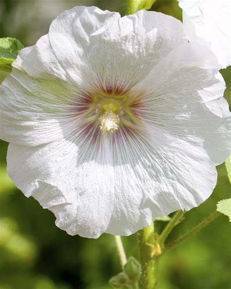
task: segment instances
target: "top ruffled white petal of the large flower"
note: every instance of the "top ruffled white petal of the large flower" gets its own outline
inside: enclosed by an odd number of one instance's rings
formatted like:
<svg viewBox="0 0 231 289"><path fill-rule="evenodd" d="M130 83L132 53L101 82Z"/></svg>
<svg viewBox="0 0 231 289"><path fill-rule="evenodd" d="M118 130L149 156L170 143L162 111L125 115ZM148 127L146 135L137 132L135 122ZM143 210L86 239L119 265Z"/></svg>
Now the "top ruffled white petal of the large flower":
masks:
<svg viewBox="0 0 231 289"><path fill-rule="evenodd" d="M127 90L174 47L187 42L173 17L139 11L120 18L97 7L78 6L62 13L49 30L58 61L77 83Z"/></svg>

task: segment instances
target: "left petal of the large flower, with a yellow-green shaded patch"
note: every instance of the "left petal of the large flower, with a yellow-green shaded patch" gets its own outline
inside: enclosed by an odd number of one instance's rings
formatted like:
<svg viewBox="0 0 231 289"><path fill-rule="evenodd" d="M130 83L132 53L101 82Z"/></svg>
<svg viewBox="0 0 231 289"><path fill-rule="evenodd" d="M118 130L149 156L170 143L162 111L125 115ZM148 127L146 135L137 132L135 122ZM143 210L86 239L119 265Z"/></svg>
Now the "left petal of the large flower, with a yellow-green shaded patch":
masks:
<svg viewBox="0 0 231 289"><path fill-rule="evenodd" d="M69 135L86 108L86 93L77 86L35 79L15 68L0 85L0 95L0 138L19 145L46 144Z"/></svg>

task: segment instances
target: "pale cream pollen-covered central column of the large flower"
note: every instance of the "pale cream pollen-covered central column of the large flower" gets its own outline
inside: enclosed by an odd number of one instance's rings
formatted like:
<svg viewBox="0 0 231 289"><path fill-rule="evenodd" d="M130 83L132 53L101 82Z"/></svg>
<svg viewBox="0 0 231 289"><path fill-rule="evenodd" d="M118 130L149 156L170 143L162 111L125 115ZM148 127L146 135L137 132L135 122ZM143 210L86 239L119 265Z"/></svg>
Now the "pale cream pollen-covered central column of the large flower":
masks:
<svg viewBox="0 0 231 289"><path fill-rule="evenodd" d="M102 114L98 120L100 122L99 128L101 129L102 134L114 132L116 129L118 129L118 124L120 123L119 116L111 110L105 111L105 113Z"/></svg>

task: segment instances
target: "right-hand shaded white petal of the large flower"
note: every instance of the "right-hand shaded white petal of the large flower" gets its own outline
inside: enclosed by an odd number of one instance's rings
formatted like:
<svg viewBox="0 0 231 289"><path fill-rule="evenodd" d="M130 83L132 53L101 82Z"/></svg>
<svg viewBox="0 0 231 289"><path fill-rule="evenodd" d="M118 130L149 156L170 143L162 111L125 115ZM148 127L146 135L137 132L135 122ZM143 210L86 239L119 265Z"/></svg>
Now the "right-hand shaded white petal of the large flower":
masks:
<svg viewBox="0 0 231 289"><path fill-rule="evenodd" d="M203 147L218 165L231 153L231 113L225 83L205 46L187 43L172 51L136 85L141 121Z"/></svg>

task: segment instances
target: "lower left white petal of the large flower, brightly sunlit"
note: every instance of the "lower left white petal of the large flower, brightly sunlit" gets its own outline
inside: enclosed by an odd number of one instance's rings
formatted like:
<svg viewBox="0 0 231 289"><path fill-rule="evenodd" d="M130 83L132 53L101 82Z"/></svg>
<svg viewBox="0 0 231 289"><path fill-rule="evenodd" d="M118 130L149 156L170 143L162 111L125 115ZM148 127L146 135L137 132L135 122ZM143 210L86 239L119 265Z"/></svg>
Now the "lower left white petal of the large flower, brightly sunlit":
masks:
<svg viewBox="0 0 231 289"><path fill-rule="evenodd" d="M16 186L57 217L71 235L97 238L110 221L114 198L112 151L94 128L48 145L10 144L7 170Z"/></svg>

